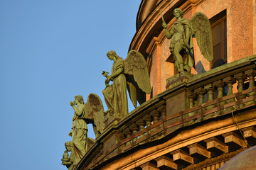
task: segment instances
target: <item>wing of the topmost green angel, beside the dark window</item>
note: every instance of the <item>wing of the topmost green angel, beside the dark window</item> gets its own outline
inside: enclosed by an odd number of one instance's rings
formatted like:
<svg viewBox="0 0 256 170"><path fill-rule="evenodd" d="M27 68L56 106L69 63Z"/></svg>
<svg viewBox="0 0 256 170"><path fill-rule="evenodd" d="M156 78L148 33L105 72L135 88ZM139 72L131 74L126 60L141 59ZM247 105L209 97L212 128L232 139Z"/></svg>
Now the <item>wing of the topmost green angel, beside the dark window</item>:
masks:
<svg viewBox="0 0 256 170"><path fill-rule="evenodd" d="M196 12L191 18L191 25L195 33L196 42L200 51L209 62L213 60L213 40L210 28L210 21L201 12Z"/></svg>

